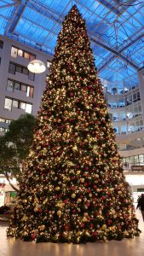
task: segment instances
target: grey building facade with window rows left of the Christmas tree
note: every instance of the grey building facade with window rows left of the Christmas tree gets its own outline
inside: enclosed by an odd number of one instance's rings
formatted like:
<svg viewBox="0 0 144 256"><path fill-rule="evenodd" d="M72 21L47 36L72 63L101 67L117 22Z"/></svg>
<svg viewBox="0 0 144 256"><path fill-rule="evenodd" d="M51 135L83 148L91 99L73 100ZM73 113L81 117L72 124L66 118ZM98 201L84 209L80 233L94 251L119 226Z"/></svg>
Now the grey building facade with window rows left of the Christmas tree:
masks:
<svg viewBox="0 0 144 256"><path fill-rule="evenodd" d="M41 60L46 71L31 73L27 69L29 61ZM8 128L9 122L18 119L22 113L37 115L49 62L52 57L30 49L8 38L0 37L0 132Z"/></svg>

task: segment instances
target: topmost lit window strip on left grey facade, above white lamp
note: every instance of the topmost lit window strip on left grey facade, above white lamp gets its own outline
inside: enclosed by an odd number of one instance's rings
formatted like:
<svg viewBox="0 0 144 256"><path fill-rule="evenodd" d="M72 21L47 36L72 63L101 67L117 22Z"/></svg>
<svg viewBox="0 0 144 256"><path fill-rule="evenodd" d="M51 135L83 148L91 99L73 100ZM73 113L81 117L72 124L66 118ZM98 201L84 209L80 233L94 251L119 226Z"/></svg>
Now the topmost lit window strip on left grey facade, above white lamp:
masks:
<svg viewBox="0 0 144 256"><path fill-rule="evenodd" d="M33 55L30 52L26 52L25 50L20 49L16 46L11 47L11 56L14 58L16 58L17 56L20 56L30 61L33 61L36 59L36 55Z"/></svg>

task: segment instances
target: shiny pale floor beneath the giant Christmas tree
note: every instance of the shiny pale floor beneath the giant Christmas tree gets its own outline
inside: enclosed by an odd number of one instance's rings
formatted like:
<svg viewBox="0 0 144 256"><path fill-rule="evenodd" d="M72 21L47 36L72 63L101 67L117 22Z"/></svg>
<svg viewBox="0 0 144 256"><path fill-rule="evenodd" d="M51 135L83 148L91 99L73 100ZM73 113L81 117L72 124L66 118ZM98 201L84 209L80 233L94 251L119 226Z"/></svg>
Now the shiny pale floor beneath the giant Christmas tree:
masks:
<svg viewBox="0 0 144 256"><path fill-rule="evenodd" d="M122 241L95 242L80 245L34 243L6 237L7 224L0 223L0 256L142 256L144 255L144 223L140 210L141 236Z"/></svg>

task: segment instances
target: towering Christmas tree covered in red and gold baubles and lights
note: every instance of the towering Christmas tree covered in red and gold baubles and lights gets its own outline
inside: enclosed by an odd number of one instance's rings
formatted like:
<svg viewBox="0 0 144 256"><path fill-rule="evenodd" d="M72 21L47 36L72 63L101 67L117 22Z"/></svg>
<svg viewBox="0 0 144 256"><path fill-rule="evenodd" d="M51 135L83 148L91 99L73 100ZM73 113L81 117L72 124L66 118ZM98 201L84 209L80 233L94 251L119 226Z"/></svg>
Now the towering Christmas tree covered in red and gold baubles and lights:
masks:
<svg viewBox="0 0 144 256"><path fill-rule="evenodd" d="M8 236L80 243L138 236L115 134L76 6L63 22Z"/></svg>

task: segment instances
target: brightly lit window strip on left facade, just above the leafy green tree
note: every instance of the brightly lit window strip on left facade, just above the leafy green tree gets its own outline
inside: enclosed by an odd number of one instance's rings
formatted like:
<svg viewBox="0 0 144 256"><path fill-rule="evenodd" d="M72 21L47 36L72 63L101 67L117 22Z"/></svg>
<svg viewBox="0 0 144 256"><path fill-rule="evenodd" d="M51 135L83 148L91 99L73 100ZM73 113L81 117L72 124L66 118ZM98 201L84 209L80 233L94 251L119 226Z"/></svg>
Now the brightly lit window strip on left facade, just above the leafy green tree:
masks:
<svg viewBox="0 0 144 256"><path fill-rule="evenodd" d="M4 109L11 111L12 107L23 109L26 113L32 113L32 103L20 102L19 100L5 98Z"/></svg>

